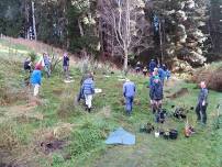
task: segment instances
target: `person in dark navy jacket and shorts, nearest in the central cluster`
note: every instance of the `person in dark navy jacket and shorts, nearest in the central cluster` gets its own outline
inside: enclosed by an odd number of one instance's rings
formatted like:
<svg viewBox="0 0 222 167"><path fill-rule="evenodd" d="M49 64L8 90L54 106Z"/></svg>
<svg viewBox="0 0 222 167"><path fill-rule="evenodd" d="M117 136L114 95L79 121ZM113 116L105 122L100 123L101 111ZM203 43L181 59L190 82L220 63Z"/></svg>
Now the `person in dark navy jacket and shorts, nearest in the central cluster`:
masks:
<svg viewBox="0 0 222 167"><path fill-rule="evenodd" d="M149 88L149 98L153 113L156 113L162 108L163 94L163 84L158 76L154 77L153 86Z"/></svg>

